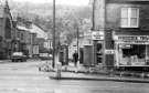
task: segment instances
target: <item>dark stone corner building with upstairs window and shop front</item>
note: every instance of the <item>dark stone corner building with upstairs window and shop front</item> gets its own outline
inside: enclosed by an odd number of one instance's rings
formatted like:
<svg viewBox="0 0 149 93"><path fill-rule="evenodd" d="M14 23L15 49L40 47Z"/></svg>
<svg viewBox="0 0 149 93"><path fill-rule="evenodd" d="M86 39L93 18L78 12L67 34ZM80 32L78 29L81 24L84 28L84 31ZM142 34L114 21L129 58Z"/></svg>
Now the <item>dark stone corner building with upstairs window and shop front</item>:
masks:
<svg viewBox="0 0 149 93"><path fill-rule="evenodd" d="M100 19L105 19L97 22L104 23L98 29L105 33L103 64L108 69L149 70L149 0L95 1L104 13Z"/></svg>

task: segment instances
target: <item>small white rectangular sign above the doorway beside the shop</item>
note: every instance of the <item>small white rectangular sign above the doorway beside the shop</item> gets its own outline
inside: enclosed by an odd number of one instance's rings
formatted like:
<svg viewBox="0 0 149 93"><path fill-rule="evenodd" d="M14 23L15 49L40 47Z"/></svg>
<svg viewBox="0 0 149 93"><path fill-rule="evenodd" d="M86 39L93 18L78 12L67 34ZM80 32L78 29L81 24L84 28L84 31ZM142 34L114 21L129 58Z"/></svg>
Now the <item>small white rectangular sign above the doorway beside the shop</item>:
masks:
<svg viewBox="0 0 149 93"><path fill-rule="evenodd" d="M93 40L104 40L104 31L93 31L92 39Z"/></svg>

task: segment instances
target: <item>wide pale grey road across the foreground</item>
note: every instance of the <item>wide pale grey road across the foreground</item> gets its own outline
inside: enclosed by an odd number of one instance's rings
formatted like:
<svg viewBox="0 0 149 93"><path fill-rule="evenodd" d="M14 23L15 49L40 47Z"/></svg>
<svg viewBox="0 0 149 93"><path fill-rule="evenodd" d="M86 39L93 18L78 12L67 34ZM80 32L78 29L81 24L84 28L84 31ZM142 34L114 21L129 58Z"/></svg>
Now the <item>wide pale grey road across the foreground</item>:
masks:
<svg viewBox="0 0 149 93"><path fill-rule="evenodd" d="M51 80L42 61L0 63L0 93L149 93L147 83Z"/></svg>

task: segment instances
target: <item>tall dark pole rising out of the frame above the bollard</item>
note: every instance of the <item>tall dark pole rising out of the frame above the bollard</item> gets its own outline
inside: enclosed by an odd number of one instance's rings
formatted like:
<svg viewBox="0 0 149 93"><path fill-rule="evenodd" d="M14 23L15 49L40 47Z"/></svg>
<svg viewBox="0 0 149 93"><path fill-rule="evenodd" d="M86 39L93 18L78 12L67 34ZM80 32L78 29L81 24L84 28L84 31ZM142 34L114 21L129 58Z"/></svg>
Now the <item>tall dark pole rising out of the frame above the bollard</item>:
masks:
<svg viewBox="0 0 149 93"><path fill-rule="evenodd" d="M53 0L53 69L55 68L55 0Z"/></svg>

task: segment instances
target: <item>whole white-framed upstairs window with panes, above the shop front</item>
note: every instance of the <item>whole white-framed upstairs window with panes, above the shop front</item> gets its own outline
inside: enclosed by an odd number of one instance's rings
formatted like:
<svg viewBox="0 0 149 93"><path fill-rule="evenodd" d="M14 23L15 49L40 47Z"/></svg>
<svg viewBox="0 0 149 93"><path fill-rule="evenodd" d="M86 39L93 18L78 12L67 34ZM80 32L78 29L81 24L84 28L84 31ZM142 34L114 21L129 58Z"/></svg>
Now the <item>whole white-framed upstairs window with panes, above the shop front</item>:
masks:
<svg viewBox="0 0 149 93"><path fill-rule="evenodd" d="M139 25L139 9L123 8L121 9L121 28L138 28Z"/></svg>

